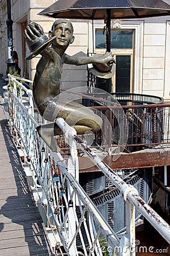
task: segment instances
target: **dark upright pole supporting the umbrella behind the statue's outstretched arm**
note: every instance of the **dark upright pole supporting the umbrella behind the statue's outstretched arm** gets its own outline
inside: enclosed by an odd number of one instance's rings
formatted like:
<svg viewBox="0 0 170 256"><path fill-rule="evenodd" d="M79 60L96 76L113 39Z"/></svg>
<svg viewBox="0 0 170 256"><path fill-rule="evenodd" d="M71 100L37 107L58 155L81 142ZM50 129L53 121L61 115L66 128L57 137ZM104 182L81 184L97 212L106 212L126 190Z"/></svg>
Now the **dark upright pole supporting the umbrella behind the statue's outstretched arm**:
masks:
<svg viewBox="0 0 170 256"><path fill-rule="evenodd" d="M111 9L107 9L107 23L106 23L106 47L107 52L111 52ZM112 79L107 79L107 92L112 92Z"/></svg>

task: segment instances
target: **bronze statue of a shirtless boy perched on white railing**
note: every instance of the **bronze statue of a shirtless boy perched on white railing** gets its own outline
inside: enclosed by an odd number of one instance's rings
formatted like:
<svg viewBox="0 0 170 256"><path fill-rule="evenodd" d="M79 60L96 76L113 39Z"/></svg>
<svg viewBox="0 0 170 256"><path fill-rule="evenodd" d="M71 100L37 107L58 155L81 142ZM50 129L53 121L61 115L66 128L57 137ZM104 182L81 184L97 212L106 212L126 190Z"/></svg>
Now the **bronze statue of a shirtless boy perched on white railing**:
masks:
<svg viewBox="0 0 170 256"><path fill-rule="evenodd" d="M75 102L63 102L57 97L60 93L62 66L63 63L74 65L92 63L103 65L104 71L108 69L110 72L114 62L113 55L108 52L91 57L67 55L65 53L67 47L74 42L73 25L69 20L56 20L52 30L49 31L50 39L44 35L42 27L35 22L28 24L24 36L32 51L26 59L32 59L39 53L42 56L37 64L33 81L33 99L41 116L51 122L62 117L78 134L84 134L88 130L94 132L100 130L102 119L92 110ZM51 43L52 47L48 47ZM108 63L111 63L110 67ZM56 123L39 126L37 131L50 149L57 151L54 135L61 134L61 130Z"/></svg>

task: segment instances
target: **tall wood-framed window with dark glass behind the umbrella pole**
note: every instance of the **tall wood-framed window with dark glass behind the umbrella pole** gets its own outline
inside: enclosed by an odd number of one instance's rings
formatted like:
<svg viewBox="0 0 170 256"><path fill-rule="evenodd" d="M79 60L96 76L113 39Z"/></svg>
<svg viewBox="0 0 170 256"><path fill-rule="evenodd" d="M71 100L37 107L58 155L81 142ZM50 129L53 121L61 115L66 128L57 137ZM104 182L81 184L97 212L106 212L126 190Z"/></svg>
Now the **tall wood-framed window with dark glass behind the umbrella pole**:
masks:
<svg viewBox="0 0 170 256"><path fill-rule="evenodd" d="M133 92L134 30L112 30L111 49L116 60L116 73L112 79L112 92ZM95 51L105 52L105 34L95 30ZM101 82L101 81L100 81Z"/></svg>

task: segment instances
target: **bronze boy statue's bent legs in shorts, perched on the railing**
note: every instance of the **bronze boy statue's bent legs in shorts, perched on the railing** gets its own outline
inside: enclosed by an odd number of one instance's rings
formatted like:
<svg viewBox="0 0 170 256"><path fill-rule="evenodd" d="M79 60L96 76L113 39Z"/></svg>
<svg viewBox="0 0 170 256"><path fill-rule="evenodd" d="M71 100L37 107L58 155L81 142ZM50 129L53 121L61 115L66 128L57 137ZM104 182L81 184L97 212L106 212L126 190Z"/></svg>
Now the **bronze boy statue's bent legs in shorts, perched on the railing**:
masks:
<svg viewBox="0 0 170 256"><path fill-rule="evenodd" d="M71 127L74 127L78 134L84 134L88 130L98 131L103 125L102 119L91 109L76 102L67 103L61 100L49 102L43 112L43 117L48 121L54 121L54 117L61 117ZM56 123L39 126L37 131L52 151L58 151L54 136L62 134L62 131Z"/></svg>

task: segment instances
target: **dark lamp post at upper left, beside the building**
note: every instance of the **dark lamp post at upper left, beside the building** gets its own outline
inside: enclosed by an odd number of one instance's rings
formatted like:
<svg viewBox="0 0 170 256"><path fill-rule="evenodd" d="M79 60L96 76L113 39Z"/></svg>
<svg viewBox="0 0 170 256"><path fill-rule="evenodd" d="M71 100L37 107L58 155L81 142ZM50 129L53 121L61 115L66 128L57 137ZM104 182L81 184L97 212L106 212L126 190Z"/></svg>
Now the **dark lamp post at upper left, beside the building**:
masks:
<svg viewBox="0 0 170 256"><path fill-rule="evenodd" d="M13 39L12 39L12 24L13 21L11 19L11 0L7 0L7 38L8 38L8 60L7 63L7 71L6 74L9 73L9 69L11 68L12 72L15 72L15 60L12 57L13 50Z"/></svg>

